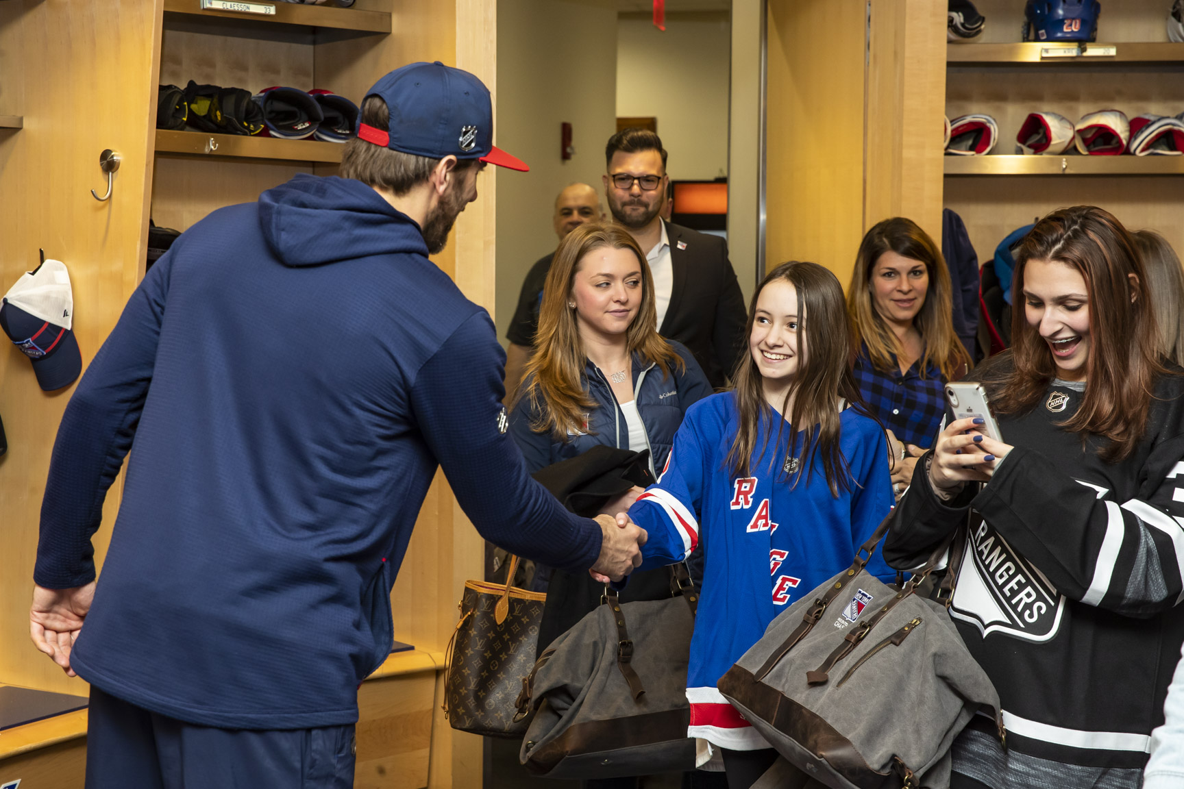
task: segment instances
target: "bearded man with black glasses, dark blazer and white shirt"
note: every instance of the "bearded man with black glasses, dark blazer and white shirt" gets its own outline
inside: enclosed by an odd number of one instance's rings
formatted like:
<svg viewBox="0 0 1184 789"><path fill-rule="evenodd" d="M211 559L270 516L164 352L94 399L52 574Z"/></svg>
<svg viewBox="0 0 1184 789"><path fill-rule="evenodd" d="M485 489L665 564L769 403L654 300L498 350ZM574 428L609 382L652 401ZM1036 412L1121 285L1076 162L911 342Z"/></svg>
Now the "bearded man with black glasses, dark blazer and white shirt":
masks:
<svg viewBox="0 0 1184 789"><path fill-rule="evenodd" d="M745 306L723 239L662 219L669 183L662 140L624 129L605 147L605 196L613 219L646 250L654 274L658 334L695 355L713 387L722 387L745 348Z"/></svg>

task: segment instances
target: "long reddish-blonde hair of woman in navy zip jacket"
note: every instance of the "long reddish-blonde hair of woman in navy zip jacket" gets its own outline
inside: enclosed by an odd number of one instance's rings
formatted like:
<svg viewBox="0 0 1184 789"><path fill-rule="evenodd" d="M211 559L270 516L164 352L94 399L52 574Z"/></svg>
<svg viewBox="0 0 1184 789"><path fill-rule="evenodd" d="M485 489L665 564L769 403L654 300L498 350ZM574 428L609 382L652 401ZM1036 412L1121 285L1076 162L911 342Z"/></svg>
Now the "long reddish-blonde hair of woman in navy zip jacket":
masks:
<svg viewBox="0 0 1184 789"><path fill-rule="evenodd" d="M670 374L671 367L678 370L686 368L682 357L658 335L654 277L637 241L618 225L580 225L560 241L547 272L534 355L526 364L526 383L514 399L514 406L528 397L535 407L539 416L530 425L532 429L536 433L549 431L559 440L564 440L570 432L584 429L584 414L597 407L584 386L587 354L580 342L575 310L567 306L567 302L580 260L588 252L603 247L632 251L642 271L642 305L625 331L629 353L656 364L663 376Z"/></svg>

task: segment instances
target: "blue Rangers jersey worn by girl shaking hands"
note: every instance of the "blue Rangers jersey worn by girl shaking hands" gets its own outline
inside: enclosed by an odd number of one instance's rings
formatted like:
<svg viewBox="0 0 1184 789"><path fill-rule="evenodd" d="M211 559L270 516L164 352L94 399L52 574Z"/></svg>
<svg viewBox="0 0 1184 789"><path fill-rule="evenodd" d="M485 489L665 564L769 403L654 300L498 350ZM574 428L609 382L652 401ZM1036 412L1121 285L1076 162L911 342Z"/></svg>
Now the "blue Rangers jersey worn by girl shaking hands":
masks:
<svg viewBox="0 0 1184 789"><path fill-rule="evenodd" d="M755 750L770 745L720 694L716 681L790 603L850 565L892 509L893 492L883 429L854 408L841 415L839 446L851 484L837 498L822 459L816 455L806 468L804 458L789 453L792 428L786 425L778 436L770 420L762 420L757 436L752 476L733 474L727 457L738 416L731 392L691 406L661 479L629 515L649 531L642 569L680 562L703 543L703 589L687 675L688 736ZM868 569L886 581L895 577L879 550ZM870 602L866 597L856 590L848 608L862 609Z"/></svg>

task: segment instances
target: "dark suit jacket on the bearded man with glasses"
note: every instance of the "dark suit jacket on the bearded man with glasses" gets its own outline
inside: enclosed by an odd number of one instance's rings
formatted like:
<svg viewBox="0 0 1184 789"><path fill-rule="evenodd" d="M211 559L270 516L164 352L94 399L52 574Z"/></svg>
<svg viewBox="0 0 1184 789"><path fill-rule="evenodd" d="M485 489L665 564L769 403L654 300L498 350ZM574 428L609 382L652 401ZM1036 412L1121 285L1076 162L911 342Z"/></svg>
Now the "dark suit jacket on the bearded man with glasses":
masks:
<svg viewBox="0 0 1184 789"><path fill-rule="evenodd" d="M722 387L747 347L748 315L728 245L718 235L671 222L667 237L674 286L658 334L686 345L712 386Z"/></svg>

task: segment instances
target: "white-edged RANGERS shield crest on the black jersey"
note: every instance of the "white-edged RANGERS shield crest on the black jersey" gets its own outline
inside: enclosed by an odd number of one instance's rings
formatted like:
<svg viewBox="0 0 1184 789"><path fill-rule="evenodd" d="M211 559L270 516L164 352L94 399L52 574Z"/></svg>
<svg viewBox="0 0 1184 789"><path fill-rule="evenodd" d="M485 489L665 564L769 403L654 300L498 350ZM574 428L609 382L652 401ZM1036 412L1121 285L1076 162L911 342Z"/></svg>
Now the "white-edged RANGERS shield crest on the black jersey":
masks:
<svg viewBox="0 0 1184 789"><path fill-rule="evenodd" d="M970 535L950 615L986 638L1003 633L1048 641L1061 626L1064 597L985 522Z"/></svg>

